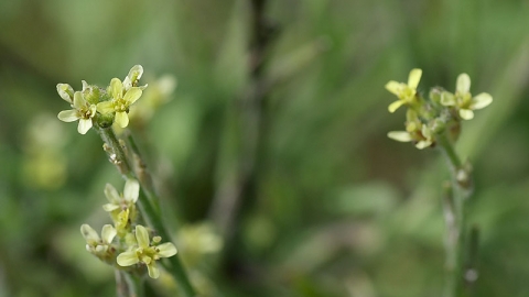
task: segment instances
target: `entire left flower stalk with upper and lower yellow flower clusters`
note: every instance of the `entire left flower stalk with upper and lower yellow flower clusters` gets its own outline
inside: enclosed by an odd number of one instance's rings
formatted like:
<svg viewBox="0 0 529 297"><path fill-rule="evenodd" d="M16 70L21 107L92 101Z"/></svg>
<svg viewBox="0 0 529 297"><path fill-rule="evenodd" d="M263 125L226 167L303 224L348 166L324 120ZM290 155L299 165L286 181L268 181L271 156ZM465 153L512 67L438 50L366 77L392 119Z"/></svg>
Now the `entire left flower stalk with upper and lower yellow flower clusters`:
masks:
<svg viewBox="0 0 529 297"><path fill-rule="evenodd" d="M158 278L159 262L172 274L184 296L192 297L195 290L163 223L145 163L132 138L129 136L129 142L118 139L112 128L112 124L121 129L129 124L129 109L147 88L147 85L138 86L142 74L143 67L136 65L122 81L112 78L106 89L86 81L83 81L82 91L74 91L67 84L57 85L60 97L72 107L72 110L61 111L57 118L64 122L78 120L80 134L94 129L104 142L108 160L126 180L122 194L110 184L104 191L109 202L102 208L110 215L114 226L106 224L101 237L88 224L83 224L80 231L87 251L116 267L118 296L142 297L142 276L148 272L151 278ZM152 229L143 227L144 222ZM162 239L165 242L162 243Z"/></svg>

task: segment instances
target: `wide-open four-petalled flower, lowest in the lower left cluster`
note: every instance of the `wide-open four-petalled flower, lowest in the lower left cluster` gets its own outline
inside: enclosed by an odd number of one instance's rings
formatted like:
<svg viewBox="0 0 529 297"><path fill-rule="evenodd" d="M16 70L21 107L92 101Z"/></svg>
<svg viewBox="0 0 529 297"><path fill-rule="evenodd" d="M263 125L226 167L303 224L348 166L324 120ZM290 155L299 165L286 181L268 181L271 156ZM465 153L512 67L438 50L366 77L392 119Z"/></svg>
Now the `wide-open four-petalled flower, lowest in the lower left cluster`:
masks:
<svg viewBox="0 0 529 297"><path fill-rule="evenodd" d="M176 248L173 243L166 242L158 245L160 237L154 237L152 242L149 239L147 229L139 224L136 227L136 240L138 245L129 251L122 252L116 258L120 266L131 266L138 263L147 265L149 276L158 278L160 270L156 267L156 261L161 257L170 257L176 254Z"/></svg>

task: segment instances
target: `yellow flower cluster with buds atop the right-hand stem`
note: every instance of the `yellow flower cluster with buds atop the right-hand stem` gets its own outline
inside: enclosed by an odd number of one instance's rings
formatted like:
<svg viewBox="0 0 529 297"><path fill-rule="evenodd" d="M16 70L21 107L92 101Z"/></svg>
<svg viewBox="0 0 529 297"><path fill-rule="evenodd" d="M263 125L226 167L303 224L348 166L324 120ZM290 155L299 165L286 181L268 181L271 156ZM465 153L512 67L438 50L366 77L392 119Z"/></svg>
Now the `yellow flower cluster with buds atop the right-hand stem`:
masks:
<svg viewBox="0 0 529 297"><path fill-rule="evenodd" d="M389 105L389 112L407 107L406 131L391 131L388 136L400 142L413 142L419 150L435 145L436 135L449 131L458 133L462 120L472 120L474 110L483 109L493 102L493 97L482 92L475 97L469 92L471 78L467 74L457 77L455 94L442 88L433 88L424 98L417 87L422 70L412 69L408 84L395 80L386 84L386 89L395 94L397 101ZM455 132L454 132L455 131ZM457 135L450 135L455 139Z"/></svg>

